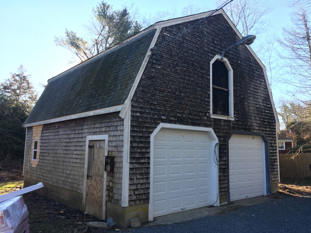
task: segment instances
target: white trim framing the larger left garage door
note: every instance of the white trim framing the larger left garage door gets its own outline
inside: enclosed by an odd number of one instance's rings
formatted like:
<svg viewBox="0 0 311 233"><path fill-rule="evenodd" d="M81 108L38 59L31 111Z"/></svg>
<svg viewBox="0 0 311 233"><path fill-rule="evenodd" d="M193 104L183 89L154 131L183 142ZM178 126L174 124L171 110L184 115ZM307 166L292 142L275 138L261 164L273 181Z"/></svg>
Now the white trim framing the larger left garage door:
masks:
<svg viewBox="0 0 311 233"><path fill-rule="evenodd" d="M175 125L168 123L160 123L158 127L153 131L150 136L150 194L149 194L149 205L148 205L148 221L153 221L153 160L154 160L154 137L162 128L169 129L181 129L181 130L196 130L207 132L207 135L211 139L211 159L214 156L214 147L218 143L218 138L212 128L198 127L198 126L185 126ZM215 165L215 164L213 164ZM215 165L212 168L212 203L214 206L219 206L219 181L218 181L218 167Z"/></svg>

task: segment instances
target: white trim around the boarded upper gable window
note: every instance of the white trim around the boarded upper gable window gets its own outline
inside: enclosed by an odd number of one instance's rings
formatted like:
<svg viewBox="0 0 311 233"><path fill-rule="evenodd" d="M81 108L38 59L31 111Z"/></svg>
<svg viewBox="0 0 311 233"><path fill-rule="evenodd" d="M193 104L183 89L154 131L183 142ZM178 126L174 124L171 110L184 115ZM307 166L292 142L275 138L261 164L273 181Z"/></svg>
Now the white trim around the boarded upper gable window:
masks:
<svg viewBox="0 0 311 233"><path fill-rule="evenodd" d="M228 69L229 116L222 116L222 115L213 114L213 83L212 83L212 77L213 77L213 63L216 60L219 60L220 62L224 62L226 68ZM234 114L233 114L233 69L230 66L228 59L224 58L223 60L221 60L219 55L216 55L210 62L210 93L211 93L210 94L210 114L211 114L211 117L234 121Z"/></svg>

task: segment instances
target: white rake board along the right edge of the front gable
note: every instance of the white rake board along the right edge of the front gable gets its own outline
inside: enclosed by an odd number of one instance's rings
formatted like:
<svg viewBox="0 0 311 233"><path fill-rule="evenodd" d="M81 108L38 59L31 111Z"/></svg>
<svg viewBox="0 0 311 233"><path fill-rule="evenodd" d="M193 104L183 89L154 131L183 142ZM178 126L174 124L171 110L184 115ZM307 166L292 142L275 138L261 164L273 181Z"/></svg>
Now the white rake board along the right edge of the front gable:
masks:
<svg viewBox="0 0 311 233"><path fill-rule="evenodd" d="M235 27L235 25L232 23L232 21L230 20L230 18L225 14L224 11L222 11L222 15L224 16L224 18L227 20L227 22L230 24L230 26L232 27L232 29L234 30L234 32L239 36L240 39L243 38L242 34L239 32L239 30ZM259 57L256 55L256 53L253 51L253 49L249 46L249 45L245 45L246 48L248 49L248 51L253 55L253 57L255 58L255 60L258 62L258 64L262 67L262 71L263 71L263 74L265 76L265 81L266 81L266 85L267 85L267 89L268 89L268 93L269 93L269 97L270 97L270 100L271 100L271 105L272 105L272 108L273 108L273 114L274 114L274 117L275 117L275 123L276 123L276 129L278 132L280 132L280 126L279 126L279 118L277 117L277 114L276 114L276 108L274 106L274 102L273 102L273 97L272 97L272 93L271 93L271 90L269 88L269 81L268 81L268 77L267 77L267 68L266 66L262 63L262 61L259 59Z"/></svg>

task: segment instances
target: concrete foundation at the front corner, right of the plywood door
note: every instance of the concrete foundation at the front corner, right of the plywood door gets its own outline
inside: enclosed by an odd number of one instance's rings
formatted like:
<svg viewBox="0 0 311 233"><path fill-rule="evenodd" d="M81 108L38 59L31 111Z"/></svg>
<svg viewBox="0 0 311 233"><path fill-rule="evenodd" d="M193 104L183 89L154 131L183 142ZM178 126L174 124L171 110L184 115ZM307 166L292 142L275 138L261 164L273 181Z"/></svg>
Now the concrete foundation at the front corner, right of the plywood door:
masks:
<svg viewBox="0 0 311 233"><path fill-rule="evenodd" d="M131 226L131 219L138 217L141 222L148 221L148 204L122 207L106 202L106 219L111 217L118 226Z"/></svg>

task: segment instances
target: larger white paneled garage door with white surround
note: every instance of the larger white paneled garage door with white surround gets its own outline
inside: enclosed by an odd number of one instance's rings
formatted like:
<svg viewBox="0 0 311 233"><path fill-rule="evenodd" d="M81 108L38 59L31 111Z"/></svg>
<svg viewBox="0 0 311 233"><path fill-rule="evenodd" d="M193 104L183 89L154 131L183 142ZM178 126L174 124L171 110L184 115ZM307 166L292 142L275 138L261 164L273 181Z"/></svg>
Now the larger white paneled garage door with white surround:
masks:
<svg viewBox="0 0 311 233"><path fill-rule="evenodd" d="M206 132L161 129L154 137L153 216L211 205Z"/></svg>

